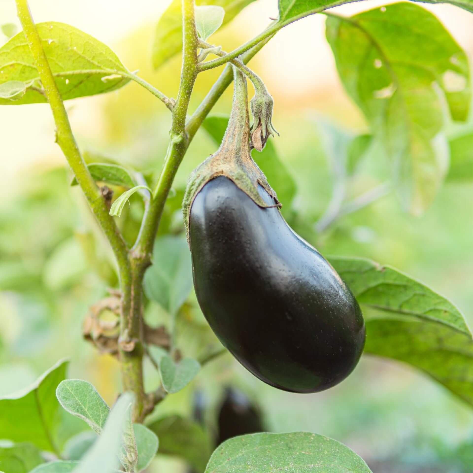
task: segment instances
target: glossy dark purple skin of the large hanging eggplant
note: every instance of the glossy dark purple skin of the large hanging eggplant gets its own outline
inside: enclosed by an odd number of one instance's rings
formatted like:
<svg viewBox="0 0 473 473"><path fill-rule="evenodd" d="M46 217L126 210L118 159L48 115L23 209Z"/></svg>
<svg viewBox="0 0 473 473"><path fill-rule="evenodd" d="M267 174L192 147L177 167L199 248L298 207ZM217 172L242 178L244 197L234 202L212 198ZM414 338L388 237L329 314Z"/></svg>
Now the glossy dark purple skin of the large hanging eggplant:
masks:
<svg viewBox="0 0 473 473"><path fill-rule="evenodd" d="M275 202L259 186L268 205ZM345 379L363 351L356 299L283 219L227 177L209 181L190 214L194 287L220 342L265 383L315 393Z"/></svg>

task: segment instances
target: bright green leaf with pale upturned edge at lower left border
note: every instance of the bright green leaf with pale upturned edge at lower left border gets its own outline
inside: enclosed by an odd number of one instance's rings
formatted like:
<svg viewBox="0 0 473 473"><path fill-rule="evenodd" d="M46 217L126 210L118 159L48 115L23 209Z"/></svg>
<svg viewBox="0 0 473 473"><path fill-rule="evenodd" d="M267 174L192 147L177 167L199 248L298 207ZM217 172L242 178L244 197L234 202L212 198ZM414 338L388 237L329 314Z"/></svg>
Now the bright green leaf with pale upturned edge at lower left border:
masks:
<svg viewBox="0 0 473 473"><path fill-rule="evenodd" d="M60 361L25 391L0 398L0 438L59 451L56 432L61 406L55 391L66 377L67 365L68 361Z"/></svg>

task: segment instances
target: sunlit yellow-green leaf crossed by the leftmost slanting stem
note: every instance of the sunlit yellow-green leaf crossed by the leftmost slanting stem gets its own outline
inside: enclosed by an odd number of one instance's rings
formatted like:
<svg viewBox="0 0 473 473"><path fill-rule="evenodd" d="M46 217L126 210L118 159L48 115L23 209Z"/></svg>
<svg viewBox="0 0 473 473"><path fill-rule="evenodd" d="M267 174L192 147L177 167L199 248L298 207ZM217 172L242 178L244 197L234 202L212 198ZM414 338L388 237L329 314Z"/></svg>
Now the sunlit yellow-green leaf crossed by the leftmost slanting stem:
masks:
<svg viewBox="0 0 473 473"><path fill-rule="evenodd" d="M130 72L105 44L64 23L36 25L63 100L102 94L123 87ZM33 55L21 31L0 48L0 84L19 81L26 93L12 102L0 97L0 105L46 102Z"/></svg>

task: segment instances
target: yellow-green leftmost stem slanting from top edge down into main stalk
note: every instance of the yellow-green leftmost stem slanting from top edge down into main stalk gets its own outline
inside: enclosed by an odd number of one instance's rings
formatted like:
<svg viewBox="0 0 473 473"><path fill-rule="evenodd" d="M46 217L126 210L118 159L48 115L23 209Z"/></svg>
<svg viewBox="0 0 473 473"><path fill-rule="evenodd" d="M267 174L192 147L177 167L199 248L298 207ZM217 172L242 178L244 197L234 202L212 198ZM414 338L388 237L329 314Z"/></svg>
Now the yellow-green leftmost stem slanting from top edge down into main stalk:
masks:
<svg viewBox="0 0 473 473"><path fill-rule="evenodd" d="M142 377L143 349L140 342L141 324L141 282L142 271L128 258L128 248L116 227L105 200L88 171L70 128L69 118L62 102L61 94L54 81L44 53L41 38L28 8L27 0L16 0L18 17L35 58L36 69L44 88L56 123L57 143L61 147L74 175L86 196L88 204L104 230L117 259L120 285L122 288L122 309L120 320L120 359L123 389L135 394L134 420L142 419L145 394Z"/></svg>

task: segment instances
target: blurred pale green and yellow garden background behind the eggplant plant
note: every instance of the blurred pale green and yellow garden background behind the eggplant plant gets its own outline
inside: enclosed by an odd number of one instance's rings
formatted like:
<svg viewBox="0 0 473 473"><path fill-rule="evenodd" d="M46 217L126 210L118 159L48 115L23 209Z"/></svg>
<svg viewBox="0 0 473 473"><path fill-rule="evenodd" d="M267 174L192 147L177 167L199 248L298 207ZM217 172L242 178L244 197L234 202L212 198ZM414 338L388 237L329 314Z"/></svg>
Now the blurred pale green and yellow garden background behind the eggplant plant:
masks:
<svg viewBox="0 0 473 473"><path fill-rule="evenodd" d="M115 5L110 13L112 26L97 20L105 7L97 7L97 13L91 1L84 2L77 21L70 6L56 8L53 1L31 3L38 20L69 22L95 35L112 46L130 70L139 69L142 77L168 96L176 95L180 58L158 72L152 71L149 59L153 28L168 2L158 7L137 2L140 15L131 16L131 25L126 22L129 7L120 12L121 5ZM103 3L110 6L112 2ZM228 51L245 42L266 25L275 3L255 2L214 35L212 43L223 44ZM342 13L374 5L346 6ZM2 8L5 18L1 22L15 22L9 7ZM464 27L471 31L473 16L448 6L431 11L471 58L473 38L464 33ZM42 18L47 14L49 17ZM250 64L274 97L273 123L280 138L273 144L297 185L285 216L323 254L368 257L393 265L449 298L471 324L473 184L445 184L419 218L404 213L390 193L337 219L322 232L314 229L333 189L321 121L352 134L367 131L337 79L324 40L324 18L320 17L289 26L278 34L277 43L269 44ZM300 41L307 42L302 65L300 51L294 53ZM292 56L298 54L296 65ZM199 76L191 112L218 75L219 70L212 70ZM249 90L251 96L251 86ZM214 112L228 114L230 103L231 88ZM107 96L68 102L67 107L79 146L89 161L108 157L145 174L160 169L170 117L147 91L130 84ZM79 189L69 186L70 171L53 144L48 107L2 107L0 122L0 183L4 188L0 200L0 394L25 387L58 359L69 358L70 377L90 381L111 404L120 390L118 364L111 356L98 355L83 340L81 327L88 308L107 295L107 288L116 287L113 257ZM473 124L464 128L473 130ZM452 127L452 135L457 131ZM199 131L176 177L176 190L184 188L190 171L215 149L210 136ZM388 177L389 168L374 147L349 179L348 195L356 197ZM120 221L130 240L141 215L140 200L132 199ZM168 217L166 229L182 233L179 212ZM202 339L213 339L194 296L186 307L189 310L180 314L179 336L184 354L192 356L199 350L197 331ZM153 325L168 322L166 313L151 302L146 317ZM151 365L146 366L146 382L150 388L158 383ZM153 417L165 412L191 415L198 390L207 406L205 421L213 431L227 385L237 386L259 406L268 430L307 430L333 437L355 450L374 472L473 471L471 408L412 368L374 357L364 356L341 385L321 394L298 395L264 385L225 355L205 367L184 391L169 396ZM180 460L158 455L149 471L180 472L185 466Z"/></svg>

